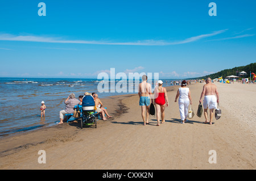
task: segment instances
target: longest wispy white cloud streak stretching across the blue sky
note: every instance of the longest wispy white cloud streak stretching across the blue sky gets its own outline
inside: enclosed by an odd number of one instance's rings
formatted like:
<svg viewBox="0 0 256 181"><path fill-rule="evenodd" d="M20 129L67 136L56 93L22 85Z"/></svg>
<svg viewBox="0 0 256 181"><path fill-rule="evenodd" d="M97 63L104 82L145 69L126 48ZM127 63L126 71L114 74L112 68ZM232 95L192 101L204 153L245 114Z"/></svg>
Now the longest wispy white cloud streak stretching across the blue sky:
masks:
<svg viewBox="0 0 256 181"><path fill-rule="evenodd" d="M139 40L135 42L109 42L109 41L85 41L85 40L64 40L60 37L46 37L46 36L16 36L7 33L0 33L0 40L2 41L30 41L30 42L41 42L41 43L62 43L62 44L97 44L97 45L177 45L177 44L186 44L193 41L198 41L206 37L216 36L220 33L223 33L227 30L214 31L212 33L203 34L199 36L189 37L185 40L180 41L164 41L164 40Z"/></svg>

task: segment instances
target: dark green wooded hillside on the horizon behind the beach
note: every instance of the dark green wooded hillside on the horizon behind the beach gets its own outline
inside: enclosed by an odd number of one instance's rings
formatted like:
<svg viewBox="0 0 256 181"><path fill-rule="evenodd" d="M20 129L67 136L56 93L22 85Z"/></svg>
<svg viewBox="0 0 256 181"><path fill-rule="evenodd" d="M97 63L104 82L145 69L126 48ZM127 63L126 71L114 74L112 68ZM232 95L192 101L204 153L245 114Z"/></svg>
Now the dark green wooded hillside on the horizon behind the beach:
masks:
<svg viewBox="0 0 256 181"><path fill-rule="evenodd" d="M197 77L197 78L189 78L189 79L206 79L208 77L210 77L211 79L214 79L214 78L219 78L219 77L224 78L229 75L239 76L239 73L241 71L246 72L246 75L244 75L243 78L250 78L250 71L251 71L251 73L256 74L256 63L251 63L246 66L238 66L233 69L225 69L225 70L218 71L217 73L214 73L214 74L205 75L203 77Z"/></svg>

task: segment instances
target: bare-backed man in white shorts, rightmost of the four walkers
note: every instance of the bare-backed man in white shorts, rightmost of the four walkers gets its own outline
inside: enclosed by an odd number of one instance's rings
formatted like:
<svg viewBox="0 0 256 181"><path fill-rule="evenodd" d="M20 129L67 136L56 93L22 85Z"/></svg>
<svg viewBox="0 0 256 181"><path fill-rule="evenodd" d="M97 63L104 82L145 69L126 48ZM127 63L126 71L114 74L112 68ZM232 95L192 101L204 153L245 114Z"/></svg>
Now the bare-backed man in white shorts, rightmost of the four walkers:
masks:
<svg viewBox="0 0 256 181"><path fill-rule="evenodd" d="M218 90L217 86L212 83L212 79L207 78L205 80L205 85L203 87L203 91L201 93L201 97L199 102L202 102L202 98L204 96L204 102L203 102L203 107L204 107L204 117L205 117L205 122L204 123L209 123L212 124L212 119L213 119L213 110L217 108L217 103L219 103L219 98L218 98ZM217 100L216 100L216 96ZM210 109L210 121L207 119L207 110L208 108Z"/></svg>

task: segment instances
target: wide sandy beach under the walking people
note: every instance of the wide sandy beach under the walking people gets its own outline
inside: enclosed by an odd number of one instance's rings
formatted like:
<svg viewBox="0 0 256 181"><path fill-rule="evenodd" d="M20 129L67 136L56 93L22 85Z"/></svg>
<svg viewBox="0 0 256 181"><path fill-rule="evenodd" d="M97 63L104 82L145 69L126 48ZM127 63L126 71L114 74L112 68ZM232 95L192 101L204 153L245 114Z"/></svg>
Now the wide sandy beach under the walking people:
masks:
<svg viewBox="0 0 256 181"><path fill-rule="evenodd" d="M180 124L179 86L168 87L166 122L156 127L156 116L144 126L138 94L102 99L112 119L97 128L64 123L0 140L0 169L256 169L256 85L215 82L220 94L220 120L204 124L194 116ZM189 85L197 111L203 83ZM56 112L58 115L58 112ZM46 163L38 163L39 150ZM209 151L217 163L209 163Z"/></svg>

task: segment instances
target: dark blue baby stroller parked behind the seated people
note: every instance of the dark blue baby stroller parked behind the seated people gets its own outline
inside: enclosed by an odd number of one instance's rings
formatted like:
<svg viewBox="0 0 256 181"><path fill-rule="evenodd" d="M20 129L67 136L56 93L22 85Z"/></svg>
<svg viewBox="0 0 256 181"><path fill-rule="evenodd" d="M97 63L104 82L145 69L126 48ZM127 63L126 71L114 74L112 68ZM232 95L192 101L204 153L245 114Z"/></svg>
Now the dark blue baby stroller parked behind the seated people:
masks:
<svg viewBox="0 0 256 181"><path fill-rule="evenodd" d="M83 125L94 125L97 128L95 103L92 95L85 95L82 98L81 129Z"/></svg>

